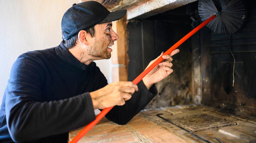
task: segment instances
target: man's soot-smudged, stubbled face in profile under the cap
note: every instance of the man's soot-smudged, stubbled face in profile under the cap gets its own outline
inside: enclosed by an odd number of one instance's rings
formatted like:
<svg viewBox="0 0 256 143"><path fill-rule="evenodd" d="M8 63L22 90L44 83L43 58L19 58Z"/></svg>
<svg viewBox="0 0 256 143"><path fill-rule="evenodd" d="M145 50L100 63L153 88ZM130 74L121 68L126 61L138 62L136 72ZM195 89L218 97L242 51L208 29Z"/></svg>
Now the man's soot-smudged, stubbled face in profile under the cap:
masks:
<svg viewBox="0 0 256 143"><path fill-rule="evenodd" d="M94 29L95 37L92 38L88 54L99 59L109 59L112 52L111 46L119 38L112 29L112 22L97 24Z"/></svg>

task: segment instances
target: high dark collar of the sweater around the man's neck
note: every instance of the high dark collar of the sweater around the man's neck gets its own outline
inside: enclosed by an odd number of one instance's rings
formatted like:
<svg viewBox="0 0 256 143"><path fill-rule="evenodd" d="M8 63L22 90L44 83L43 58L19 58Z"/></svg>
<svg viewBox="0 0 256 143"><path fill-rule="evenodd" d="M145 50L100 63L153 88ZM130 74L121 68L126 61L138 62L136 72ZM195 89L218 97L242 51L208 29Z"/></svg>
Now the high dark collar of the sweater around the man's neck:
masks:
<svg viewBox="0 0 256 143"><path fill-rule="evenodd" d="M55 47L55 51L57 56L64 60L65 62L69 63L70 65L74 66L78 70L84 70L88 66L84 63L81 63L75 56L73 56L69 50L63 45L61 42L59 46Z"/></svg>

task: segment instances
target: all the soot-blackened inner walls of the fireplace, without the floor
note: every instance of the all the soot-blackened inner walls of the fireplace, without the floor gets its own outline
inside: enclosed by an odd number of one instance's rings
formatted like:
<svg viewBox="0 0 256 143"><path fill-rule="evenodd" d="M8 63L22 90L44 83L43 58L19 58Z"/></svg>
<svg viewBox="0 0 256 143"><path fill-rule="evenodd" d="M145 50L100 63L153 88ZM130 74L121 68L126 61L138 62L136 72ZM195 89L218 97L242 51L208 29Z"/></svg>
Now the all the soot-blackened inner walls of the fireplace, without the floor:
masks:
<svg viewBox="0 0 256 143"><path fill-rule="evenodd" d="M197 3L137 21L129 21L128 80L201 23ZM173 56L174 72L156 84L158 95L146 108L203 104L222 112L256 117L256 10L248 4L250 19L233 35L216 34L203 27ZM235 57L234 87L233 63Z"/></svg>

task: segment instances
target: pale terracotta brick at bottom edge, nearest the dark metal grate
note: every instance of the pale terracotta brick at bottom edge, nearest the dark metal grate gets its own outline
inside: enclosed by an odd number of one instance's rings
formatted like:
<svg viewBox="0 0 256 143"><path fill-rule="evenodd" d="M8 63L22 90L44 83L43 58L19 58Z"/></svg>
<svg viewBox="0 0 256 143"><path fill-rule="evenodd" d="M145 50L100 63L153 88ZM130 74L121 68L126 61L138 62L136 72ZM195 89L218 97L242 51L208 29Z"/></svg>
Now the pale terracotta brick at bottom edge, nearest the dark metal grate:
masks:
<svg viewBox="0 0 256 143"><path fill-rule="evenodd" d="M138 130L137 132L154 143L166 143L166 142L186 143L186 141L183 140L182 138L160 127L141 129L141 130Z"/></svg>

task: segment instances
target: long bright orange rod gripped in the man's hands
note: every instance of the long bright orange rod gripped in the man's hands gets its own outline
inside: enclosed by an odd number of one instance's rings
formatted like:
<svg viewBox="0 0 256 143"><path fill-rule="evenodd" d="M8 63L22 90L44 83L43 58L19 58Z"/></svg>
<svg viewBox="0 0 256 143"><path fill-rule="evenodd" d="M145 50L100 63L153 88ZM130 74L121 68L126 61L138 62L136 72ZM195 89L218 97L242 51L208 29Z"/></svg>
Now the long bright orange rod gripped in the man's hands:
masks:
<svg viewBox="0 0 256 143"><path fill-rule="evenodd" d="M181 40L179 40L176 44L174 44L170 49L168 49L163 55L169 55L172 53L173 50L178 48L185 40L195 34L198 30L200 30L204 25L208 24L212 21L216 16L212 15L210 18L205 20L202 24L198 25L195 29L189 32L186 36L184 36ZM134 84L138 84L143 77L145 77L152 69L154 69L161 61L163 60L162 57L159 57L153 64L151 64L145 71L143 71L137 78L133 80ZM102 119L113 107L103 109L97 116L94 121L89 123L87 126L84 127L71 141L70 143L78 142L86 133L88 133L93 126L95 126L100 119Z"/></svg>

